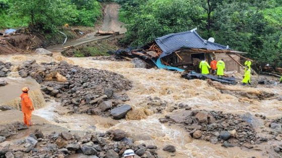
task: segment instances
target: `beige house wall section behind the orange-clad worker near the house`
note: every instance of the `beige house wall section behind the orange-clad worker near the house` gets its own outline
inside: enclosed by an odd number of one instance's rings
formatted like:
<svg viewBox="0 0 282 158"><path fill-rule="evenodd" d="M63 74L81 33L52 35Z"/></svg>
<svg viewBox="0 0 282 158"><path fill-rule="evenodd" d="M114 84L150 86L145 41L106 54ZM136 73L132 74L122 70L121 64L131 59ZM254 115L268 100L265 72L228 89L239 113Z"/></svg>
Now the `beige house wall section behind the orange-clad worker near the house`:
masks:
<svg viewBox="0 0 282 158"><path fill-rule="evenodd" d="M224 59L225 62L225 71L237 71L240 70L240 65L236 63L233 59L231 59L226 53L216 53L217 60ZM230 55L232 56L236 61L240 62L240 57L237 55Z"/></svg>

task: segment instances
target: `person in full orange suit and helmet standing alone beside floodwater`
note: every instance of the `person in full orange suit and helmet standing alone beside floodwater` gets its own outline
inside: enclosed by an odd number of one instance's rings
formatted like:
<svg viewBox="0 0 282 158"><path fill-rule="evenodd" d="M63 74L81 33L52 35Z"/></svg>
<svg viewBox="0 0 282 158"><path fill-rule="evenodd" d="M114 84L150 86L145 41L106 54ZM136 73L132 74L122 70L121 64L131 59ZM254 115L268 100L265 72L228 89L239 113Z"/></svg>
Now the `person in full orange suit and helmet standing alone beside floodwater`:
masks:
<svg viewBox="0 0 282 158"><path fill-rule="evenodd" d="M27 126L32 125L31 122L31 112L34 110L32 101L28 96L28 87L24 87L22 89L23 93L21 94L21 104L22 104L22 112L24 114L24 124Z"/></svg>

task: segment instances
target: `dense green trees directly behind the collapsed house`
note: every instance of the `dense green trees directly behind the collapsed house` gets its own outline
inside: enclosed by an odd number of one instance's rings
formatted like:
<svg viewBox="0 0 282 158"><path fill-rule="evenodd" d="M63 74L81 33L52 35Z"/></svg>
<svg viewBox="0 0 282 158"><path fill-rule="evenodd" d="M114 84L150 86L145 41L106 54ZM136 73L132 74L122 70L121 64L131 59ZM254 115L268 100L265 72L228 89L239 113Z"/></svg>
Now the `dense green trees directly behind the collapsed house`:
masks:
<svg viewBox="0 0 282 158"><path fill-rule="evenodd" d="M248 52L262 64L282 66L281 0L116 0L126 25L125 43L198 28L207 39Z"/></svg>

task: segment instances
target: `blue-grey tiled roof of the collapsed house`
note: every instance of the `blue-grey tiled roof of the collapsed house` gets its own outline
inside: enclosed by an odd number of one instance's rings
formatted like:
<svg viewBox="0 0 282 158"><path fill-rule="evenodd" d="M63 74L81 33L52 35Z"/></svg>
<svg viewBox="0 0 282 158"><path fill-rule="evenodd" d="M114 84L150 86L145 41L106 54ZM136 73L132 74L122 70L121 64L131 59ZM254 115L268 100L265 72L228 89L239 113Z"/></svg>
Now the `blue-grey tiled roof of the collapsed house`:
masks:
<svg viewBox="0 0 282 158"><path fill-rule="evenodd" d="M180 48L230 50L228 46L223 46L202 39L197 34L196 29L182 33L169 34L163 37L156 38L155 41L163 51L160 57L167 56Z"/></svg>

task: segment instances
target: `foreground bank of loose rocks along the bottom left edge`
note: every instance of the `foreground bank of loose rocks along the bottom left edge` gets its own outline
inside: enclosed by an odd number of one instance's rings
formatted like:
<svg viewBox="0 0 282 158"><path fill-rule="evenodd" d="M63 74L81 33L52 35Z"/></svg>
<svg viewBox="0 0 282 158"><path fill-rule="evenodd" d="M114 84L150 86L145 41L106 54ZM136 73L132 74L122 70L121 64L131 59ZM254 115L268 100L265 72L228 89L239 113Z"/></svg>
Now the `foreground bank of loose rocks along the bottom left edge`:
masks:
<svg viewBox="0 0 282 158"><path fill-rule="evenodd" d="M17 140L0 148L0 157L67 157L75 153L118 158L126 149L133 149L135 157L159 157L157 146L134 144L127 134L119 129L106 133L85 133L83 136L70 132L52 132L43 135L39 130L24 140ZM95 157L95 156L94 156Z"/></svg>

